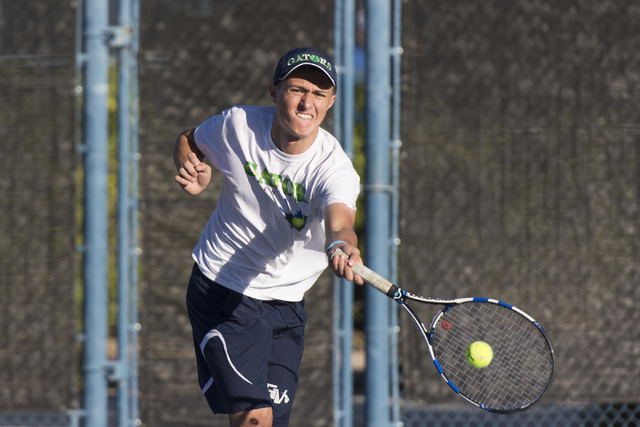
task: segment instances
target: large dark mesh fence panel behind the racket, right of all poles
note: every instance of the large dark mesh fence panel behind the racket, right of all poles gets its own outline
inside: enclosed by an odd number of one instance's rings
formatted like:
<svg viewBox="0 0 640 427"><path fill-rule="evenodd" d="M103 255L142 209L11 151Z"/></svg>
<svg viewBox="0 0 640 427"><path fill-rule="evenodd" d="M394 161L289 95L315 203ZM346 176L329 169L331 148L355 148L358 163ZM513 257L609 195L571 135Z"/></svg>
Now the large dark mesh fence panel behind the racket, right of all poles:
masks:
<svg viewBox="0 0 640 427"><path fill-rule="evenodd" d="M523 418L435 407L406 424L638 425L640 8L415 0L403 15L401 284L514 304L557 355ZM406 403L454 404L402 320Z"/></svg>

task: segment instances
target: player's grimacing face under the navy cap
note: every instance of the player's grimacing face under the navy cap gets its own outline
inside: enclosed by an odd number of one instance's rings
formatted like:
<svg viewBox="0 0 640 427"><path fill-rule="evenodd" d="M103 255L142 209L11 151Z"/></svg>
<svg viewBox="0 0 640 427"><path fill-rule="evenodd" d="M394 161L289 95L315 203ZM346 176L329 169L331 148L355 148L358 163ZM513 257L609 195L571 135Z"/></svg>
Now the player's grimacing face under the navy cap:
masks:
<svg viewBox="0 0 640 427"><path fill-rule="evenodd" d="M275 141L276 144L305 138L315 140L318 127L336 100L329 79L310 67L292 71L278 86L271 85L269 93L276 104L274 136L289 140Z"/></svg>

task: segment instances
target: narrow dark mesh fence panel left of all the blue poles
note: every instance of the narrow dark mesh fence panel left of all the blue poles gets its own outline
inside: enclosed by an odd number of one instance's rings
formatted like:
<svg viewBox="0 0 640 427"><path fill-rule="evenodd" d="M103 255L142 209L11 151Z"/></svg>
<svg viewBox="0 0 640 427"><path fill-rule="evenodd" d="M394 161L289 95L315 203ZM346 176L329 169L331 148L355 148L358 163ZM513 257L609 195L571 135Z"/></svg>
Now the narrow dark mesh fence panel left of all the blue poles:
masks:
<svg viewBox="0 0 640 427"><path fill-rule="evenodd" d="M67 0L0 0L2 425L75 400L74 35Z"/></svg>

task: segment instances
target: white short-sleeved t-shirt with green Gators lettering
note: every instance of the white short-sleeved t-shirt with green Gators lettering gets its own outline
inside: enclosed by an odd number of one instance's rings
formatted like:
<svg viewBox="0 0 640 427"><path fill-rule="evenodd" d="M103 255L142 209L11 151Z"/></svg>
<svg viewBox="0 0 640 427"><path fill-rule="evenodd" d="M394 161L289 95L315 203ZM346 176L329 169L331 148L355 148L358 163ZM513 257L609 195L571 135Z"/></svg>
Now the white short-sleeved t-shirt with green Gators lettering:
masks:
<svg viewBox="0 0 640 427"><path fill-rule="evenodd" d="M300 301L327 267L324 209L355 210L360 179L338 141L319 129L288 155L271 139L275 107L233 107L198 126L195 141L224 175L193 259L222 286L261 300Z"/></svg>

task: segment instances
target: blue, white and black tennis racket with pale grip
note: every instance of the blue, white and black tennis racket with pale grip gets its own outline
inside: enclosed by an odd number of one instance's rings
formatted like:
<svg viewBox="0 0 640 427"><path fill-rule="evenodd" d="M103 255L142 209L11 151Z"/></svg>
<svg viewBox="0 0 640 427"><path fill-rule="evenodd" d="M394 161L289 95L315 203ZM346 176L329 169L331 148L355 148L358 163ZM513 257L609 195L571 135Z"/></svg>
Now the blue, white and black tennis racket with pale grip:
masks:
<svg viewBox="0 0 640 427"><path fill-rule="evenodd" d="M337 249L333 257L337 255L345 254ZM426 298L398 288L362 264L352 270L409 313L440 376L467 401L510 414L530 408L549 390L555 369L553 346L538 322L522 310L489 298ZM444 309L427 329L409 301ZM476 341L493 350L493 359L484 368L475 368L466 359L468 346Z"/></svg>

